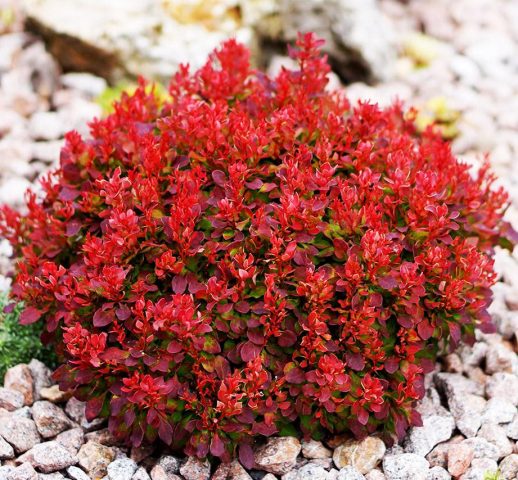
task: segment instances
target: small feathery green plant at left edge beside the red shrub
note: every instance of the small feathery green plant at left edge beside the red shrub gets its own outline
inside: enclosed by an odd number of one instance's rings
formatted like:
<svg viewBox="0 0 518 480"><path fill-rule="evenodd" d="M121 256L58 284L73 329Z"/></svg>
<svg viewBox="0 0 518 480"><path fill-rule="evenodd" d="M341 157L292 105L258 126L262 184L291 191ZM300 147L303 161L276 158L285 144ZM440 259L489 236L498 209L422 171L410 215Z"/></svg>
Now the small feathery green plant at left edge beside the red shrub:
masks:
<svg viewBox="0 0 518 480"><path fill-rule="evenodd" d="M56 354L52 348L43 346L40 340L43 326L20 325L18 317L23 310L22 304L16 305L12 312L4 313L8 303L7 296L0 294L0 378L4 377L8 368L30 362L32 358L55 367Z"/></svg>

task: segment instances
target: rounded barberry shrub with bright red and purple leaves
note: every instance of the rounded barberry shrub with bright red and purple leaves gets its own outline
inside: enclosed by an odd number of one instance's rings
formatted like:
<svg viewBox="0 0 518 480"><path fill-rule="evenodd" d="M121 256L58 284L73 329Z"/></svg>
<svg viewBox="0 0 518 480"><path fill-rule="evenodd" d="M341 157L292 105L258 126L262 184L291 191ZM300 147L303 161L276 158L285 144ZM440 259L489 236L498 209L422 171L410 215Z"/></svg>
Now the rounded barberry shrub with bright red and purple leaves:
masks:
<svg viewBox="0 0 518 480"><path fill-rule="evenodd" d="M401 437L439 348L491 329L506 194L399 105L327 91L319 47L269 78L230 40L166 99L141 82L2 209L21 321L117 437L246 465L257 436Z"/></svg>

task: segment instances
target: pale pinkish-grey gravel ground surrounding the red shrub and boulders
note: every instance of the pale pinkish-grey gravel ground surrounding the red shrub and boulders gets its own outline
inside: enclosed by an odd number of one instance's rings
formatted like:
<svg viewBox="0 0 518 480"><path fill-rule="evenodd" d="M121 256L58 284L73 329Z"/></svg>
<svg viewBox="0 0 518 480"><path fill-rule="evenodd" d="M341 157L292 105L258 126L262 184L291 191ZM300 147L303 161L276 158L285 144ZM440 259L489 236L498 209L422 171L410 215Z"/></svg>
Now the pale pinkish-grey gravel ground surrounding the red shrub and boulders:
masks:
<svg viewBox="0 0 518 480"><path fill-rule="evenodd" d="M508 218L518 227L518 2L380 3L399 32L395 76L375 86L349 85L349 95L382 105L398 97L422 107L447 135L457 132L455 153L474 165L490 153L513 202ZM21 208L25 188L56 163L63 133L84 132L101 113L93 98L105 83L89 74L61 75L41 41L16 24L12 30L0 36L0 202ZM2 276L8 254L0 242L0 289L8 287ZM473 347L438 363L419 406L424 426L400 446L387 449L377 438L327 445L271 439L256 452L256 470L236 463L210 473L193 459L117 446L32 362L15 367L0 388L0 480L484 480L497 469L500 478L516 479L517 261L516 253L497 252L491 313L498 333L479 333Z"/></svg>

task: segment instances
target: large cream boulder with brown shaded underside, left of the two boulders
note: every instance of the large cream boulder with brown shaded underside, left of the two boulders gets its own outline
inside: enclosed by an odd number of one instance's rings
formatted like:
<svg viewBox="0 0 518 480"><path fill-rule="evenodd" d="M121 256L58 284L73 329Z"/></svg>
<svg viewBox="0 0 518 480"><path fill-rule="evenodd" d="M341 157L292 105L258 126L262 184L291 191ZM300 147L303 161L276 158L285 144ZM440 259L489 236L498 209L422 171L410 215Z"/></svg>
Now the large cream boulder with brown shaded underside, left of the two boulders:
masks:
<svg viewBox="0 0 518 480"><path fill-rule="evenodd" d="M193 68L234 33L248 45L252 30L198 2L165 0L22 0L27 27L43 36L65 70L116 81L143 75L169 81L180 63ZM194 2L196 3L196 2ZM213 17L216 18L212 18ZM225 17L227 15L227 17ZM227 21L228 20L228 21ZM231 29L232 32L227 31Z"/></svg>

